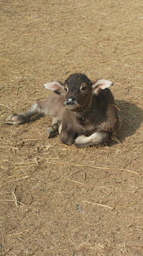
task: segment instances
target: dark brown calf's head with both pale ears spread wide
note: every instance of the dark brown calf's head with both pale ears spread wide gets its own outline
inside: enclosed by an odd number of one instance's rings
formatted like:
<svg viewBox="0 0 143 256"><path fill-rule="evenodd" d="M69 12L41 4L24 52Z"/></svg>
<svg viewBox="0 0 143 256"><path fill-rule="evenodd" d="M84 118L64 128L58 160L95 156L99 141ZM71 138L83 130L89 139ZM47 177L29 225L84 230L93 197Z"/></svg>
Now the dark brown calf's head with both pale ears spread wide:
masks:
<svg viewBox="0 0 143 256"><path fill-rule="evenodd" d="M64 95L64 106L74 112L82 112L88 109L92 103L93 95L98 95L100 90L110 87L112 82L100 79L94 82L88 79L85 74L71 74L63 83L49 82L44 85L46 89L57 94Z"/></svg>

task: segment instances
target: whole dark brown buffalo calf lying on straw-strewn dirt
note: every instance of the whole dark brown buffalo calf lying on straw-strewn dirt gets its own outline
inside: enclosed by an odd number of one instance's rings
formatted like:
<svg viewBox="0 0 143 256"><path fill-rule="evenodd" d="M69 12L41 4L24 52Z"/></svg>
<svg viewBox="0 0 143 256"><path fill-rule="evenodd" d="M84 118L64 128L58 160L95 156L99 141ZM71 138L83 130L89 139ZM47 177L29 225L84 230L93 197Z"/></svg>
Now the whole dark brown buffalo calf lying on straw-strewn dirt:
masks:
<svg viewBox="0 0 143 256"><path fill-rule="evenodd" d="M119 116L113 95L108 89L112 82L91 81L85 74L71 74L67 80L44 85L53 91L46 100L38 101L26 113L7 118L7 124L29 122L32 116L51 116L48 138L60 134L60 141L77 147L108 143L117 133Z"/></svg>

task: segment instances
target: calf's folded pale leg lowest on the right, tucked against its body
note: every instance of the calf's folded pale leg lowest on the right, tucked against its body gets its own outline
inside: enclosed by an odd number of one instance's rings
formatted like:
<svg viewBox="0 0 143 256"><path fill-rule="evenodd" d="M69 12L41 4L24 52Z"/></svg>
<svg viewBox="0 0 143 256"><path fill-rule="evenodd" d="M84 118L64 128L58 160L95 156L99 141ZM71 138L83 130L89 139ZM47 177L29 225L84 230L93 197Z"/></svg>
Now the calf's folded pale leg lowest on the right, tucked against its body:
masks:
<svg viewBox="0 0 143 256"><path fill-rule="evenodd" d="M86 137L85 135L79 135L74 140L74 144L76 147L88 147L92 145L100 145L100 144L107 143L109 138L110 138L110 132L97 131L88 137Z"/></svg>

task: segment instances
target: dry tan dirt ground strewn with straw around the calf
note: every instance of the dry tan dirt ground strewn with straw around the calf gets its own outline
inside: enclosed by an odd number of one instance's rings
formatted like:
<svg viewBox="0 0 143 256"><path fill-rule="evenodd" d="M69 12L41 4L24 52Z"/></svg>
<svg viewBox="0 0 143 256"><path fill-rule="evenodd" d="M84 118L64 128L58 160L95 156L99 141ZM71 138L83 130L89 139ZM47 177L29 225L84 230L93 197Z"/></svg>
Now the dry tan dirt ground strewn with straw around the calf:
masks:
<svg viewBox="0 0 143 256"><path fill-rule="evenodd" d="M143 255L143 2L1 1L2 256ZM70 74L108 79L116 143L48 139L47 117L5 124Z"/></svg>

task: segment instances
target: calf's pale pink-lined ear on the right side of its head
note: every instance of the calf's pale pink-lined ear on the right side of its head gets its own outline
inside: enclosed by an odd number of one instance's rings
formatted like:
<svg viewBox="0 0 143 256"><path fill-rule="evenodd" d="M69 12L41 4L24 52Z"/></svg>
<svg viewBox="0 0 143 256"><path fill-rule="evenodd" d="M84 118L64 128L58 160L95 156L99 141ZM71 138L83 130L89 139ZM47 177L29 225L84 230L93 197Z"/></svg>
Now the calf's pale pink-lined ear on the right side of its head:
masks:
<svg viewBox="0 0 143 256"><path fill-rule="evenodd" d="M98 94L100 90L104 90L105 88L108 88L111 85L113 85L112 82L105 79L99 79L97 81L92 82L92 91L94 92L94 94Z"/></svg>

